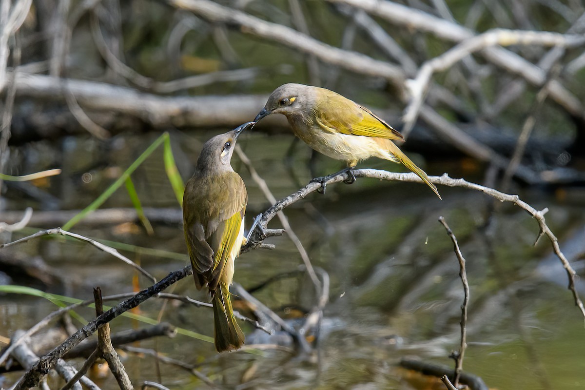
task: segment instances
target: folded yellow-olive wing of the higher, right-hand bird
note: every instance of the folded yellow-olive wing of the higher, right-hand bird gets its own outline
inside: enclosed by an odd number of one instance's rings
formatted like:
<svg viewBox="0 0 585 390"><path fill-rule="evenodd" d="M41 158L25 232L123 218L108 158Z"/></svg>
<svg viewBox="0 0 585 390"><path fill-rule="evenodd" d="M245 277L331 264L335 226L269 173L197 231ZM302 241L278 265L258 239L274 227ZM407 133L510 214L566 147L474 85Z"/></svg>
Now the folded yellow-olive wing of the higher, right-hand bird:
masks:
<svg viewBox="0 0 585 390"><path fill-rule="evenodd" d="M315 110L316 120L325 131L354 136L403 140L402 134L369 109L335 92Z"/></svg>

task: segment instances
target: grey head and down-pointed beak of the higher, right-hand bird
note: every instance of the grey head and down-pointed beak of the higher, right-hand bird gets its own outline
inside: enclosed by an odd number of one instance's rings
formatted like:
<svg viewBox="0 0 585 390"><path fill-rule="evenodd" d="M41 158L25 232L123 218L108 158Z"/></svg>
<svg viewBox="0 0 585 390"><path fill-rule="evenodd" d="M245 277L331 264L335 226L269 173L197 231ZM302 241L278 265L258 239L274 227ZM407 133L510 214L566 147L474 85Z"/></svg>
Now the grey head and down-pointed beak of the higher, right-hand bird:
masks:
<svg viewBox="0 0 585 390"><path fill-rule="evenodd" d="M303 84L284 84L274 89L266 105L254 119L258 122L271 113L281 113L287 117L308 113L315 101L315 87Z"/></svg>

